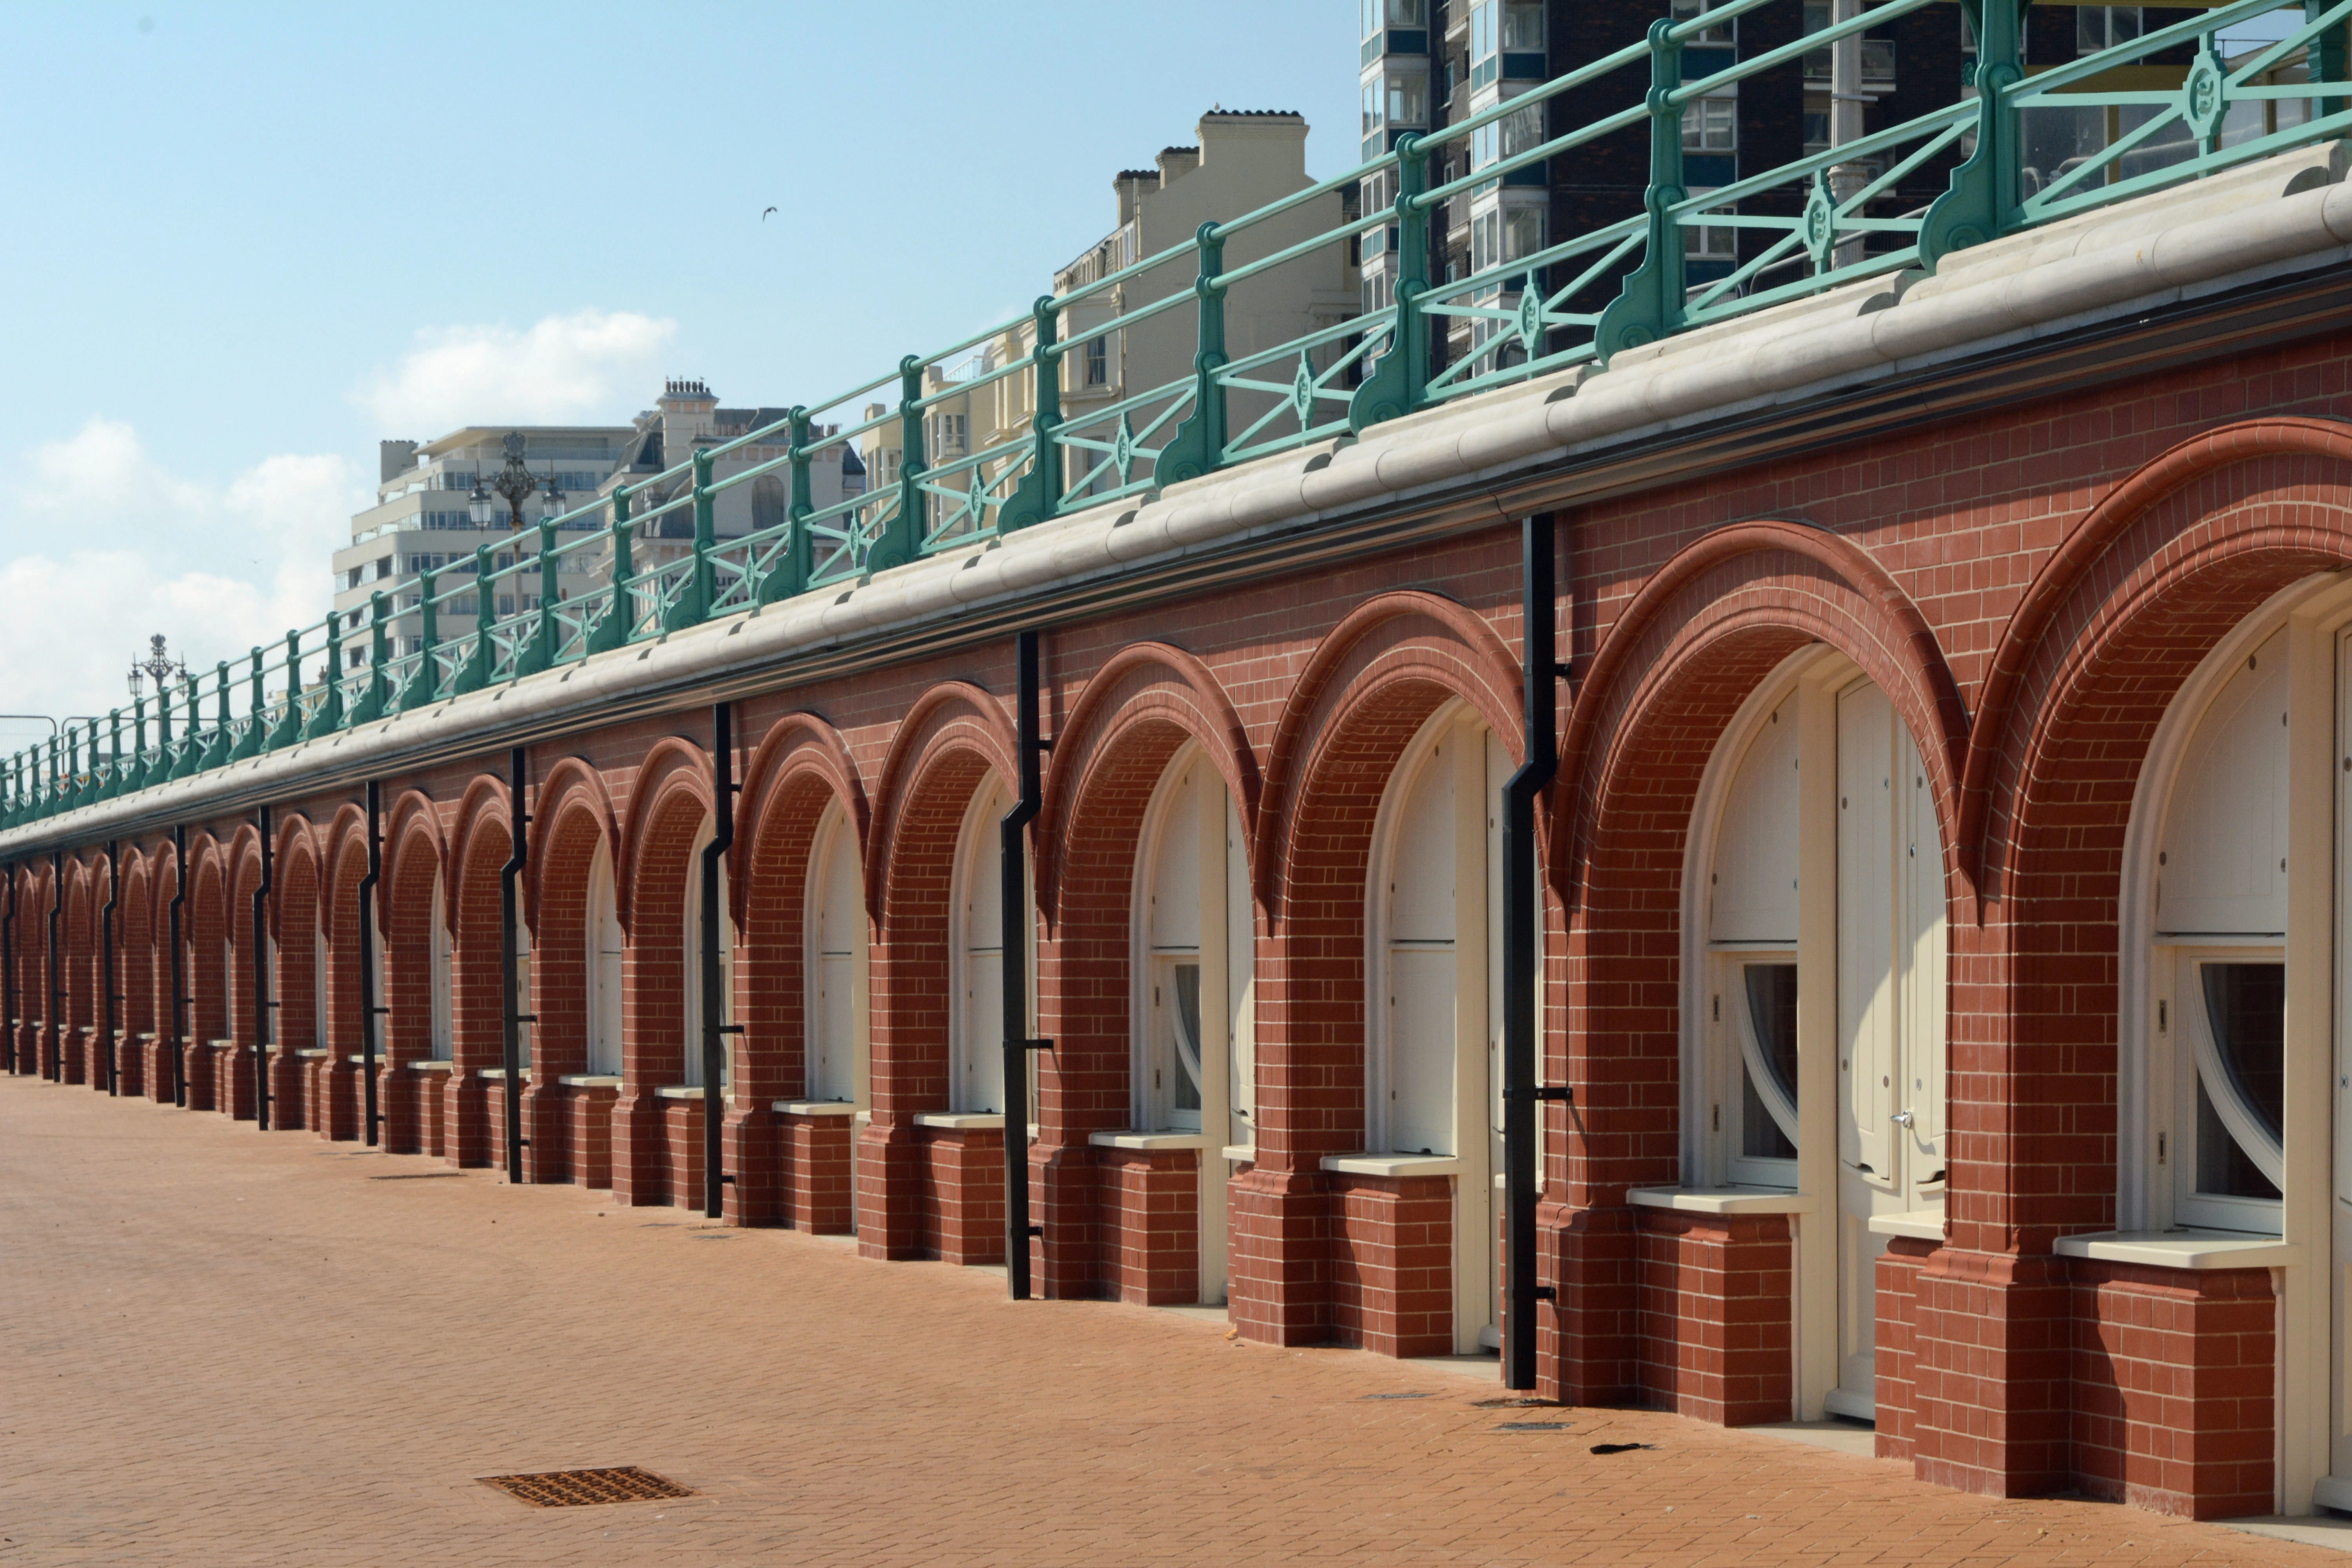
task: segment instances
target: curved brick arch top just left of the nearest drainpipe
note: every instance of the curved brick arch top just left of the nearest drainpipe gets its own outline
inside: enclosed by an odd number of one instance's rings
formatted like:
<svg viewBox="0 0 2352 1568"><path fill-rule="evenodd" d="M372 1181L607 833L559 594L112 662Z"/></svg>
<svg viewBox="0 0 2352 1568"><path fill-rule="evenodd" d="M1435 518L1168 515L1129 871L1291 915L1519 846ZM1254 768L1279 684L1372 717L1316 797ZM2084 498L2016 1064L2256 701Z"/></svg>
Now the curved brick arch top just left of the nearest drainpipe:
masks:
<svg viewBox="0 0 2352 1568"><path fill-rule="evenodd" d="M1367 599L1315 646L1265 752L1249 879L1270 924L1289 917L1284 863L1296 853L1301 823L1310 816L1303 806L1312 802L1308 785L1331 764L1327 748L1348 729L1343 715L1357 710L1371 715L1388 696L1404 691L1421 691L1428 698L1421 703L1423 719L1444 696L1461 696L1501 736L1512 757L1526 755L1519 729L1519 661L1484 616L1421 590ZM1418 701L1406 698L1406 708ZM1395 750L1406 741L1411 731L1395 741ZM1381 778L1385 780L1385 769ZM1371 832L1369 818L1364 832Z"/></svg>

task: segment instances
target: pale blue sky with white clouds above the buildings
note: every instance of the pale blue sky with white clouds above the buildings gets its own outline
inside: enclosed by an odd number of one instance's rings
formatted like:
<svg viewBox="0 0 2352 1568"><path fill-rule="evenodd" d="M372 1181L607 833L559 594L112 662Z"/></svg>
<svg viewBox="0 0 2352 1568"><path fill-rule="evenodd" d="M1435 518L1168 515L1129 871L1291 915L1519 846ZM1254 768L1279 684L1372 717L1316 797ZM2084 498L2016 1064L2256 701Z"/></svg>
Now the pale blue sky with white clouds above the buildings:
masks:
<svg viewBox="0 0 2352 1568"><path fill-rule="evenodd" d="M5 710L322 614L379 437L842 390L1021 310L1214 103L1355 162L1352 0L7 21Z"/></svg>

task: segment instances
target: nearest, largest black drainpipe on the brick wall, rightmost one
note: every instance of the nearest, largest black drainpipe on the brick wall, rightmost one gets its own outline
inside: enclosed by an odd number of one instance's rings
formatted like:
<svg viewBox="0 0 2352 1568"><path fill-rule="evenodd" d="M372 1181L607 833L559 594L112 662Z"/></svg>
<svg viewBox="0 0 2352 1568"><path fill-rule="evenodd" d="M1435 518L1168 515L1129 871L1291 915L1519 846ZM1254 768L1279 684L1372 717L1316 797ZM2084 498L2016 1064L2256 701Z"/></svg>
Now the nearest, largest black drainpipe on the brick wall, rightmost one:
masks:
<svg viewBox="0 0 2352 1568"><path fill-rule="evenodd" d="M1555 1300L1536 1284L1536 1105L1569 1100L1569 1088L1536 1086L1543 1039L1543 896L1536 870L1536 797L1559 771L1557 696L1566 668L1552 656L1550 512L1522 524L1519 637L1526 764L1503 785L1503 1387L1536 1387L1536 1302Z"/></svg>

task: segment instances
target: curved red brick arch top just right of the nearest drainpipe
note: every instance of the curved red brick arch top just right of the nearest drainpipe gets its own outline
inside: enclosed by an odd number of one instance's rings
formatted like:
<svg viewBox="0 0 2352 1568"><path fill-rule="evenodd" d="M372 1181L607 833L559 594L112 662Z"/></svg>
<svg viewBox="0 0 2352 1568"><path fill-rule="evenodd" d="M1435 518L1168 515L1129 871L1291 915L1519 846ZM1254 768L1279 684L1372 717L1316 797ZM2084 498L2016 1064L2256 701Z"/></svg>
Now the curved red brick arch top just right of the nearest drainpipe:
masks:
<svg viewBox="0 0 2352 1568"><path fill-rule="evenodd" d="M1625 755L1625 724L1679 679L1675 665L1703 642L1771 625L1792 637L1780 656L1797 642L1825 642L1889 696L1929 771L1945 867L1966 875L1971 863L1962 858L1957 830L1966 705L1926 616L1853 541L1806 522L1757 520L1717 529L1661 567L1616 616L1576 686L1559 745L1550 844L1550 877L1571 910L1583 877L1578 858L1592 844L1592 792L1616 766L1613 757ZM1743 698L1745 689L1733 708ZM1729 710L1715 719L1719 731ZM1705 745L1712 750L1715 733Z"/></svg>

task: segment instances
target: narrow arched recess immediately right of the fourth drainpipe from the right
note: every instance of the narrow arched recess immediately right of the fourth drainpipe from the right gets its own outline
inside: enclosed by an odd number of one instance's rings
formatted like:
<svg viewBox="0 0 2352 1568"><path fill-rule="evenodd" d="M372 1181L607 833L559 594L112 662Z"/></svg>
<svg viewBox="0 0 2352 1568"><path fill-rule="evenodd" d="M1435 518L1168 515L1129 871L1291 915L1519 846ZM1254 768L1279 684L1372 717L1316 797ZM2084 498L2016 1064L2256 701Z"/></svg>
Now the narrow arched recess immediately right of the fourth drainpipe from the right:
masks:
<svg viewBox="0 0 2352 1568"><path fill-rule="evenodd" d="M626 940L614 875L621 830L604 778L579 757L557 759L539 785L529 827L534 1081L616 1074Z"/></svg>

